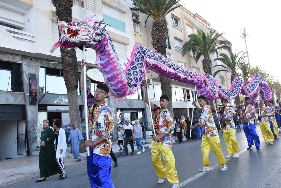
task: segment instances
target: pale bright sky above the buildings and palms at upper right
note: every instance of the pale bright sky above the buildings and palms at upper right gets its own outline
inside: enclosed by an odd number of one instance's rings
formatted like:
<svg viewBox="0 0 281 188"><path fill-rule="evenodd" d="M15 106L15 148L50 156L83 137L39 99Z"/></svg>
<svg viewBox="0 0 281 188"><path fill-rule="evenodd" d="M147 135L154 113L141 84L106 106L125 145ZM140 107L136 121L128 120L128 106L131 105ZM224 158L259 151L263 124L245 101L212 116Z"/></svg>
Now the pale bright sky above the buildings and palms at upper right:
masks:
<svg viewBox="0 0 281 188"><path fill-rule="evenodd" d="M248 32L247 48L251 66L261 66L268 74L281 82L281 2L253 0L181 0L193 14L198 13L211 28L225 33L235 51L246 52L244 39L240 29L245 27Z"/></svg>

